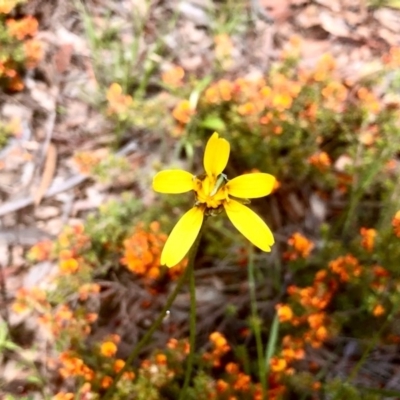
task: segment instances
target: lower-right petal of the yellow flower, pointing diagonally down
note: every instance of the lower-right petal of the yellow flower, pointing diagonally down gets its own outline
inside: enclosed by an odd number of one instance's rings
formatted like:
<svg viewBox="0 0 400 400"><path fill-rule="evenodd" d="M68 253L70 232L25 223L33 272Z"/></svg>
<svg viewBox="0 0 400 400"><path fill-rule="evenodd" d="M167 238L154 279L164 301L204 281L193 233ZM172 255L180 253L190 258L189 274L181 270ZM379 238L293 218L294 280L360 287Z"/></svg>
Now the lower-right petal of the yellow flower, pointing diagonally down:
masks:
<svg viewBox="0 0 400 400"><path fill-rule="evenodd" d="M261 250L271 251L275 243L272 232L254 211L232 199L224 207L232 224L243 236Z"/></svg>

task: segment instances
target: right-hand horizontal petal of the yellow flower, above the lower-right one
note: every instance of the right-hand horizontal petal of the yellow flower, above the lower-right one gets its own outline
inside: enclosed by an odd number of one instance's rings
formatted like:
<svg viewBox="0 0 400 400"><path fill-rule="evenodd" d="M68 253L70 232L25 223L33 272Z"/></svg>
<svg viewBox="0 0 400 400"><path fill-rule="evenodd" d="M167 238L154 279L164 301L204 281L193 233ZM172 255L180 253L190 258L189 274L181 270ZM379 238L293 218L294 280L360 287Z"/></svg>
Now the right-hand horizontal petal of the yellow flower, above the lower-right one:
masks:
<svg viewBox="0 0 400 400"><path fill-rule="evenodd" d="M274 184L275 177L257 172L233 178L226 184L226 187L232 196L241 199L255 199L270 194Z"/></svg>

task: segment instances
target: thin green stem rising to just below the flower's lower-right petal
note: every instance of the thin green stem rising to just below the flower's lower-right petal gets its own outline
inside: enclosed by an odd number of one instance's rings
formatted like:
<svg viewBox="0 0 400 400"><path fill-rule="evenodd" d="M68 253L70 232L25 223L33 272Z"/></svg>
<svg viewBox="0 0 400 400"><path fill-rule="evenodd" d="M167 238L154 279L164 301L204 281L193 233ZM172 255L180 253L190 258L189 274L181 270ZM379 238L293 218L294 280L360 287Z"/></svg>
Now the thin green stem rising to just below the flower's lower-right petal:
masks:
<svg viewBox="0 0 400 400"><path fill-rule="evenodd" d="M248 279L250 289L250 304L251 304L251 315L253 319L253 330L256 339L256 350L257 350L257 361L259 370L259 379L261 382L262 398L267 398L267 371L265 367L263 343L261 338L261 321L258 318L257 311L257 296L256 296L256 281L254 278L254 251L253 247L249 251L249 267L248 267Z"/></svg>

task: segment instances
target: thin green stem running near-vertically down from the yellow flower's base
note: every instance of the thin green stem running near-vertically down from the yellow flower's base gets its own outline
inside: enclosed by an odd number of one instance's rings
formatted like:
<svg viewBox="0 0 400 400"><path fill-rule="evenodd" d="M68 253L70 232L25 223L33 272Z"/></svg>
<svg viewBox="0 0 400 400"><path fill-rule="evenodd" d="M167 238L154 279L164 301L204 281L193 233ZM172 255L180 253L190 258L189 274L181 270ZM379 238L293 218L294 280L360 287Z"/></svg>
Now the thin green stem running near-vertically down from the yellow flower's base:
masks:
<svg viewBox="0 0 400 400"><path fill-rule="evenodd" d="M185 380L183 382L182 390L179 394L179 400L185 400L186 392L189 387L190 378L193 370L193 359L195 354L196 346L196 284L194 279L194 262L197 255L197 250L199 248L199 243L203 233L203 225L200 229L196 241L194 242L192 249L189 253L188 266L186 267L189 272L189 292L190 292L190 318L189 318L189 345L190 352L187 358L187 366L185 372Z"/></svg>

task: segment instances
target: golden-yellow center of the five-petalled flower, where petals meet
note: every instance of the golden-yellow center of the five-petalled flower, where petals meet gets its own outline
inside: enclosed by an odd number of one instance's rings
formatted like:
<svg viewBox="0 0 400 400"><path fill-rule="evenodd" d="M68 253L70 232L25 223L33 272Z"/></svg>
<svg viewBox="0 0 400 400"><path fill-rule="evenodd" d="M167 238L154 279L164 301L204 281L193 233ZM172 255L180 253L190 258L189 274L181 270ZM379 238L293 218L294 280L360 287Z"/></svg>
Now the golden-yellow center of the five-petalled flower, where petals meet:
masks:
<svg viewBox="0 0 400 400"><path fill-rule="evenodd" d="M205 204L207 208L218 208L228 200L228 190L225 186L226 177L221 174L217 177L206 176L195 178L194 191L197 203Z"/></svg>

